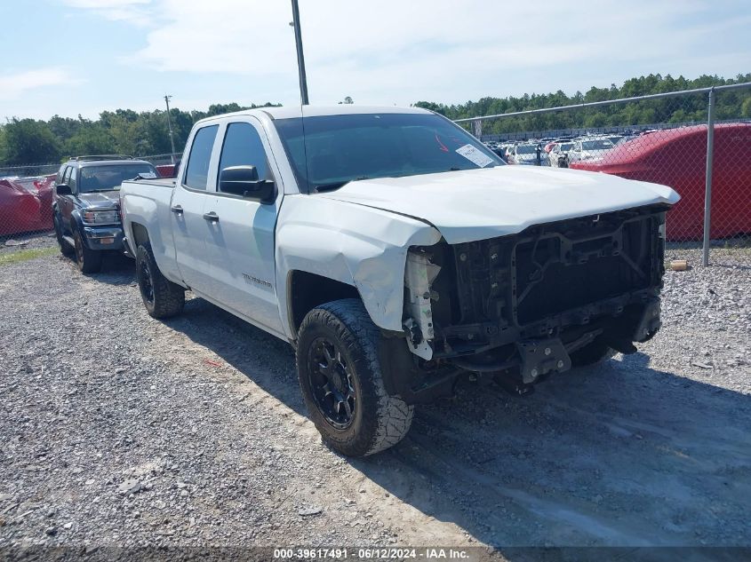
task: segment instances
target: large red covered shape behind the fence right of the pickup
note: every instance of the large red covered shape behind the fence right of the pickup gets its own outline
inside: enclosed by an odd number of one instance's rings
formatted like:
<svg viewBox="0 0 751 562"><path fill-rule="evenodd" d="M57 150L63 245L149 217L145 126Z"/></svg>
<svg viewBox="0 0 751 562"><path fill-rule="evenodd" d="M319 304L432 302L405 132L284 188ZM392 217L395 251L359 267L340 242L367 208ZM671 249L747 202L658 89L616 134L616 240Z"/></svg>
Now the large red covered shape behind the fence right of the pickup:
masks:
<svg viewBox="0 0 751 562"><path fill-rule="evenodd" d="M603 153L601 161L571 162L576 170L670 186L681 201L667 216L667 240L700 240L704 233L707 127L651 131ZM751 233L751 123L715 125L712 181L713 239Z"/></svg>

